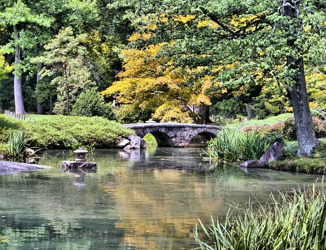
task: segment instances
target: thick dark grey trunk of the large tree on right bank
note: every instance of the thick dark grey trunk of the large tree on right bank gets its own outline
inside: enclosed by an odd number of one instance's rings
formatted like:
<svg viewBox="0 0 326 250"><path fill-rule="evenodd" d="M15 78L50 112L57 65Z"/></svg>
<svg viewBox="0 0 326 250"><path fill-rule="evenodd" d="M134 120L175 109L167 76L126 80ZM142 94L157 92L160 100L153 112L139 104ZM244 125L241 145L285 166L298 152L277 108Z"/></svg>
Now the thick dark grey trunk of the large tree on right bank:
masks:
<svg viewBox="0 0 326 250"><path fill-rule="evenodd" d="M300 37L302 32L301 20L298 18L299 1L284 1L284 3L290 4L290 6L284 5L284 16L291 17L292 20L296 19L296 22L293 22L292 25L297 26L288 27L289 30L292 30L292 34L289 34L289 39L287 40L287 46L295 49L295 38ZM304 60L302 57L294 58L293 56L287 56L286 65L289 71L294 70L296 72L295 75L291 76L294 84L288 86L287 92L293 107L298 155L310 155L313 153L316 145L318 145L318 140L309 109Z"/></svg>

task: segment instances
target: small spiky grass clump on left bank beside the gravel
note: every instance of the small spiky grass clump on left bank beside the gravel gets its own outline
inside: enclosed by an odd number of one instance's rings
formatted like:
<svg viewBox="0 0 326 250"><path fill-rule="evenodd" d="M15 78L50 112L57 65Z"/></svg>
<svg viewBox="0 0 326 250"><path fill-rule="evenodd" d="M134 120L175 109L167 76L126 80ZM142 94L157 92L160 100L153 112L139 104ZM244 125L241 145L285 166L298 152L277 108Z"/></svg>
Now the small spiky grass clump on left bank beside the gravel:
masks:
<svg viewBox="0 0 326 250"><path fill-rule="evenodd" d="M11 157L21 157L28 149L30 137L24 131L14 130L9 135L6 148Z"/></svg>

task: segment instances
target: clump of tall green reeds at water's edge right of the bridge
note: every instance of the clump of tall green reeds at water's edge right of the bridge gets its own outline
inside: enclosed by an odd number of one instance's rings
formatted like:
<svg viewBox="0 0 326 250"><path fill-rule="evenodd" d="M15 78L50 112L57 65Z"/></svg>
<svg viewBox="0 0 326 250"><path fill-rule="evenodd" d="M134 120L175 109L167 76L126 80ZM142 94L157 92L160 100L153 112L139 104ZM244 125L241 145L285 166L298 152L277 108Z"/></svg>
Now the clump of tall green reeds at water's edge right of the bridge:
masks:
<svg viewBox="0 0 326 250"><path fill-rule="evenodd" d="M230 162L258 160L270 147L258 133L242 133L238 128L225 128L207 142L204 153L212 160Z"/></svg>

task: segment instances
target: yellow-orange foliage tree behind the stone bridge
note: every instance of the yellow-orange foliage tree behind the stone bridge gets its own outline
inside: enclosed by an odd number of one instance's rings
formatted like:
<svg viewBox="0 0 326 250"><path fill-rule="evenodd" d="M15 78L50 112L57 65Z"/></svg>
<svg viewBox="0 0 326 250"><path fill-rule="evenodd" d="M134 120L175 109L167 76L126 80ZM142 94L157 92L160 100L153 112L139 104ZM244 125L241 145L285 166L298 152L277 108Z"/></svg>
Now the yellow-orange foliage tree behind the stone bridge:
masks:
<svg viewBox="0 0 326 250"><path fill-rule="evenodd" d="M133 38L131 38L133 39ZM124 71L120 80L102 91L103 96L114 96L121 105L121 121L137 122L154 118L159 121L202 123L205 113L202 106L210 105L192 71L172 66L167 58L156 57L160 45L150 45L144 50L121 51ZM195 84L190 87L192 81Z"/></svg>

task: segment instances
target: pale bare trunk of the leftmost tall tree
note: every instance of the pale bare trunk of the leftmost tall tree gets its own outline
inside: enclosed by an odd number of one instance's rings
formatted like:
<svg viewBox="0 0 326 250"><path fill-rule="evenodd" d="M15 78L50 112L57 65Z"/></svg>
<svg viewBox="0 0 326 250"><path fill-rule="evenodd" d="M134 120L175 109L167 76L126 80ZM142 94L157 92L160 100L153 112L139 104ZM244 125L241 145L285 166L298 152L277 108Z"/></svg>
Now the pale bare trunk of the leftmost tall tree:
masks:
<svg viewBox="0 0 326 250"><path fill-rule="evenodd" d="M16 25L14 25L14 36L15 40L18 41L18 33ZM20 58L20 46L15 47L15 73L14 73L14 97L15 97L15 112L16 114L26 114L24 104L22 101L22 89L21 89L21 76L18 72L18 64Z"/></svg>

